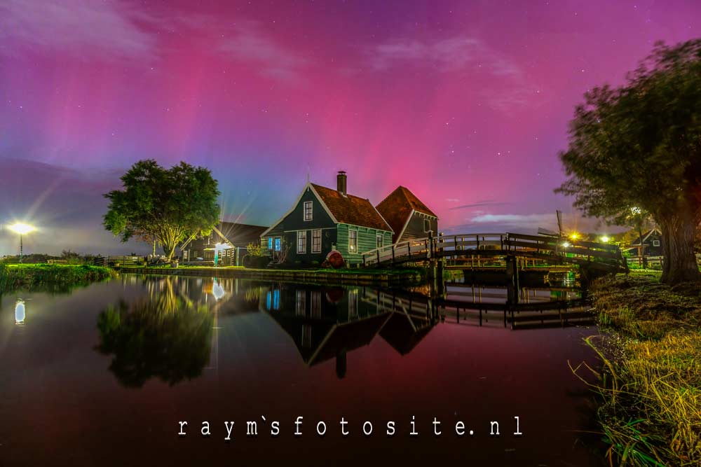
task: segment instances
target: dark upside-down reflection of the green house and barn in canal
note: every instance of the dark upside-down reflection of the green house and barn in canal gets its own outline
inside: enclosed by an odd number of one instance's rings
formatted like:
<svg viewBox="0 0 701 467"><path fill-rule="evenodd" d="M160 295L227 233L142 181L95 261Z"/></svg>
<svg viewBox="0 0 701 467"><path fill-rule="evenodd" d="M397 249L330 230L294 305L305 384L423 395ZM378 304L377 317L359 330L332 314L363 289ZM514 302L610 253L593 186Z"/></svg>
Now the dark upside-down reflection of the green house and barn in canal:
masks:
<svg viewBox="0 0 701 467"><path fill-rule="evenodd" d="M433 321L391 312L369 288L264 287L261 309L290 335L309 366L336 359L336 375L346 376L349 352L370 344L376 335L404 355L421 342Z"/></svg>

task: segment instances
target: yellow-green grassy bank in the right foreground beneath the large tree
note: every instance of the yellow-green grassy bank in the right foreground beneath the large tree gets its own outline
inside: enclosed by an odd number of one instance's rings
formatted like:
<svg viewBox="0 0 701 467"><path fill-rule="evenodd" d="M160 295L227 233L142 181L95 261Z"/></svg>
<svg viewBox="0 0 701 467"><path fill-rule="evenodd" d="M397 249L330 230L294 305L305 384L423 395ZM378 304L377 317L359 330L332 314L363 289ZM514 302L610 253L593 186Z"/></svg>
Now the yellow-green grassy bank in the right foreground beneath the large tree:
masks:
<svg viewBox="0 0 701 467"><path fill-rule="evenodd" d="M658 272L595 281L611 333L587 342L604 362L594 384L611 465L701 465L701 286Z"/></svg>

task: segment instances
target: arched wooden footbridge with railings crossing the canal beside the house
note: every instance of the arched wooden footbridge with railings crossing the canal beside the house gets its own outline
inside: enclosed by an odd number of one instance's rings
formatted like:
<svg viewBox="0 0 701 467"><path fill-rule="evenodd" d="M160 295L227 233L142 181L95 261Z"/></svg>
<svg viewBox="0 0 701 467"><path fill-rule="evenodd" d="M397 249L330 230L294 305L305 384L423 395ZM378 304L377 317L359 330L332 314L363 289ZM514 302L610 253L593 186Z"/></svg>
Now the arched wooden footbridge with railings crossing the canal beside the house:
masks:
<svg viewBox="0 0 701 467"><path fill-rule="evenodd" d="M508 258L526 260L522 267L584 265L603 272L627 270L627 263L618 246L545 237L540 235L461 234L411 239L362 253L365 267L383 267L444 259L454 263L475 261L480 266L504 267Z"/></svg>

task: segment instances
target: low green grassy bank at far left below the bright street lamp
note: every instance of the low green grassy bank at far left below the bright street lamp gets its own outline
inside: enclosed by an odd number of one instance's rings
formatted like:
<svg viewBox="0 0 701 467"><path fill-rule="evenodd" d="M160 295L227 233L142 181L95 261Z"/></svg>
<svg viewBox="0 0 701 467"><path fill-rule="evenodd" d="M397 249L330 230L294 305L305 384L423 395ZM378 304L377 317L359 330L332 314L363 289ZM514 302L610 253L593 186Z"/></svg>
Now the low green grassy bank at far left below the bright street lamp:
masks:
<svg viewBox="0 0 701 467"><path fill-rule="evenodd" d="M65 291L113 276L114 271L99 266L0 263L0 292Z"/></svg>

